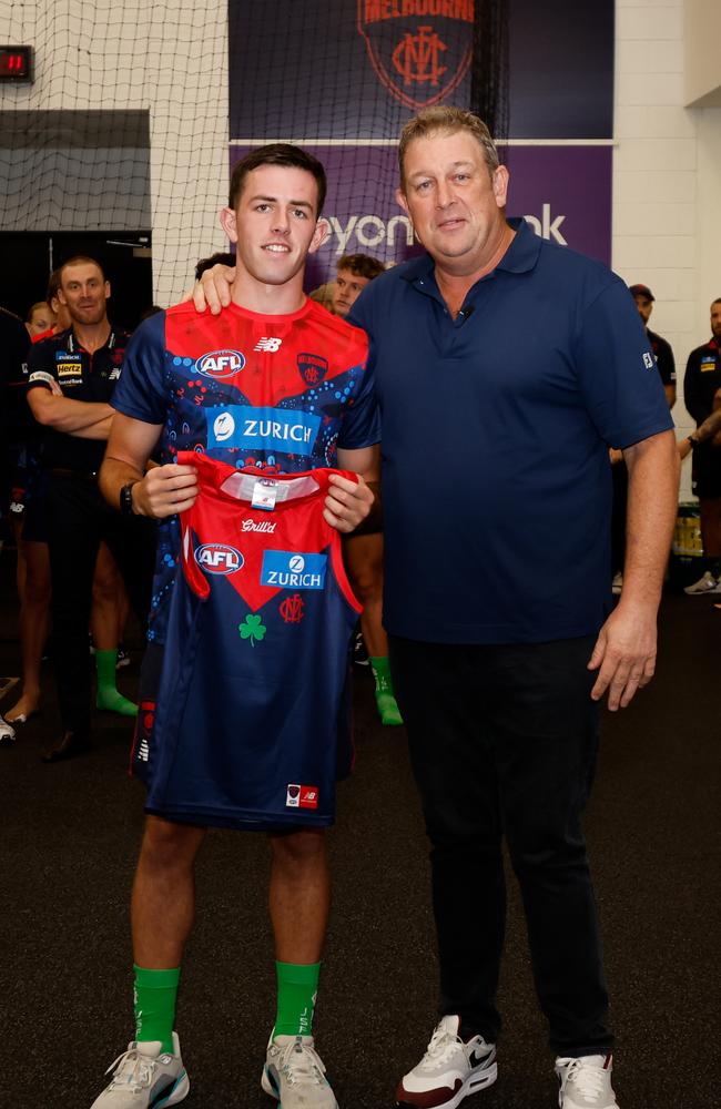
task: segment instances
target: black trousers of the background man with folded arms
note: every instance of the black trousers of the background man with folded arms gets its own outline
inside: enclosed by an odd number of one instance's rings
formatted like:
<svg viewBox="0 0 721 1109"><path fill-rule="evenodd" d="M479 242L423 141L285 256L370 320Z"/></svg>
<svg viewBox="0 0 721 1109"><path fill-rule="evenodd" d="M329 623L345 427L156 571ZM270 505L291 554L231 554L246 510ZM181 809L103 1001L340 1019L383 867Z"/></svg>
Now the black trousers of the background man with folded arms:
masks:
<svg viewBox="0 0 721 1109"><path fill-rule="evenodd" d="M153 583L155 523L114 511L92 479L52 472L45 511L60 714L63 729L85 731L91 701L88 625L101 540L118 562L131 606L144 628Z"/></svg>

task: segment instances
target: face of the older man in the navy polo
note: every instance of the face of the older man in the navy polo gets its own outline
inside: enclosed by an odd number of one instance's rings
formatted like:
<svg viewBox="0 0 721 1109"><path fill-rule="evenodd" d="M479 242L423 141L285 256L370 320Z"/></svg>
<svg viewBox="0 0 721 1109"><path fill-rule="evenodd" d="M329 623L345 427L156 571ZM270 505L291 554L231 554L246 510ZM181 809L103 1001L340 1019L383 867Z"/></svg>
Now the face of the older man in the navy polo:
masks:
<svg viewBox="0 0 721 1109"><path fill-rule="evenodd" d="M468 131L436 132L413 140L396 197L436 265L449 274L485 268L507 231L508 171L489 171Z"/></svg>

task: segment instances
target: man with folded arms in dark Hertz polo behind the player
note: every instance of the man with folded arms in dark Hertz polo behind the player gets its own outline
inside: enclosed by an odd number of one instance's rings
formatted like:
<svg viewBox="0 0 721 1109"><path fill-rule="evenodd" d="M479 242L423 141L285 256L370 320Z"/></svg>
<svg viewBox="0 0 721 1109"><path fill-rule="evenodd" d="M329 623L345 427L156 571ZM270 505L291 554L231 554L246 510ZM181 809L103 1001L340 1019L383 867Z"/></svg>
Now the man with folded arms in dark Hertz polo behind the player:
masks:
<svg viewBox="0 0 721 1109"><path fill-rule="evenodd" d="M43 754L58 762L91 745L88 627L100 543L104 540L144 624L150 608L154 528L120 519L98 489L98 471L113 419L109 400L120 379L128 334L112 327L110 284L100 265L82 255L60 267L58 297L72 326L37 344L30 355L28 403L45 428L43 467L51 613L58 650L53 664L63 731ZM115 686L116 651L97 651L97 706L134 715L136 706Z"/></svg>

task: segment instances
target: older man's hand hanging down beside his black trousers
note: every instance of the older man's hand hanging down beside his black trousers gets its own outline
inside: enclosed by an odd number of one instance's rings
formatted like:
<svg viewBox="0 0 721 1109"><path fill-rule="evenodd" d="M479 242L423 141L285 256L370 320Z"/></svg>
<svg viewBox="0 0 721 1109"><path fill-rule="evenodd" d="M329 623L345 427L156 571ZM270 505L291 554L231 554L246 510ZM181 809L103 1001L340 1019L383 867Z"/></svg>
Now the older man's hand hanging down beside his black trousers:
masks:
<svg viewBox="0 0 721 1109"><path fill-rule="evenodd" d="M631 608L621 599L598 633L588 664L589 670L599 671L592 699L600 701L608 690L611 712L626 709L653 676L656 638L656 608Z"/></svg>

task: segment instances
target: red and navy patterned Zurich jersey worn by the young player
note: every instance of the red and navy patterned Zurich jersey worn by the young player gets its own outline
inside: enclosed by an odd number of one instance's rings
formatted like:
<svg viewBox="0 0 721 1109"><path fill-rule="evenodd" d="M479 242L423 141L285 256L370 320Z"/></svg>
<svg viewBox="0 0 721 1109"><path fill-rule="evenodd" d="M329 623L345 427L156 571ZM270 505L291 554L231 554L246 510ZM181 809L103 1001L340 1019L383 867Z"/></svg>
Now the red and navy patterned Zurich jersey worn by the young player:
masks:
<svg viewBox="0 0 721 1109"><path fill-rule="evenodd" d="M193 450L235 468L293 474L334 466L336 448L380 438L367 338L313 301L270 316L192 303L138 328L113 394L118 411L162 426L160 460ZM149 639L164 642L180 551L176 517L159 528Z"/></svg>

